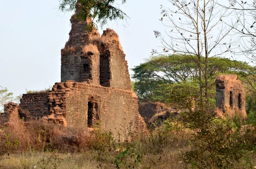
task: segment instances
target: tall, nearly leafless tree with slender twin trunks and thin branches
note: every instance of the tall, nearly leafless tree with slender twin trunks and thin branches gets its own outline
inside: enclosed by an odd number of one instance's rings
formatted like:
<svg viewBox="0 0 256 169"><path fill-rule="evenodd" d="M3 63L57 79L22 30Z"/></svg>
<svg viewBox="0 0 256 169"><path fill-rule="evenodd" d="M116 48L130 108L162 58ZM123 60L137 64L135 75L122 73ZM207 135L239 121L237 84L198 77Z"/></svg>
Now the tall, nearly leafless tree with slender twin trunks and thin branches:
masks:
<svg viewBox="0 0 256 169"><path fill-rule="evenodd" d="M232 11L218 5L218 0L168 1L172 8L162 6L163 17L160 20L167 28L165 32L169 39L158 31L154 31L155 36L162 41L163 52L188 56L197 64L199 102L207 109L208 58L223 56L230 51L232 41L227 42L227 37L233 28L226 26L223 20L230 20Z"/></svg>

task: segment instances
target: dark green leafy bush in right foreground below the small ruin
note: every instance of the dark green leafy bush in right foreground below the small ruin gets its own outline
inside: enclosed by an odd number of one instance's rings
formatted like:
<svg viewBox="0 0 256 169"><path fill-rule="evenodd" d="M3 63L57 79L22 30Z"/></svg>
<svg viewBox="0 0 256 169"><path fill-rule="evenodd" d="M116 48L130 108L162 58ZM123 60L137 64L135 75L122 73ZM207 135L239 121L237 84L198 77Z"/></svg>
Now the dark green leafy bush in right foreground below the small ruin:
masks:
<svg viewBox="0 0 256 169"><path fill-rule="evenodd" d="M204 111L185 113L182 118L195 132L192 149L183 155L185 163L198 169L227 169L244 156L239 125Z"/></svg>

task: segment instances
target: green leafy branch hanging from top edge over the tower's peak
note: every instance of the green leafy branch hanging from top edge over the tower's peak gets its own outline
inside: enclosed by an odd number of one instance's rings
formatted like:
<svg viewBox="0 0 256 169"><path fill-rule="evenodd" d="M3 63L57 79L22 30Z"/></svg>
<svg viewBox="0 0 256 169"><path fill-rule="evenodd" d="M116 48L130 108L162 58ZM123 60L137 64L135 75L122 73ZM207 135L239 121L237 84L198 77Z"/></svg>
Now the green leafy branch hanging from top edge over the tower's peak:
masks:
<svg viewBox="0 0 256 169"><path fill-rule="evenodd" d="M117 0L60 0L61 11L76 11L76 16L85 21L91 18L87 29L98 28L97 24L103 27L108 20L124 19L128 17L117 4ZM122 0L122 4L126 0Z"/></svg>

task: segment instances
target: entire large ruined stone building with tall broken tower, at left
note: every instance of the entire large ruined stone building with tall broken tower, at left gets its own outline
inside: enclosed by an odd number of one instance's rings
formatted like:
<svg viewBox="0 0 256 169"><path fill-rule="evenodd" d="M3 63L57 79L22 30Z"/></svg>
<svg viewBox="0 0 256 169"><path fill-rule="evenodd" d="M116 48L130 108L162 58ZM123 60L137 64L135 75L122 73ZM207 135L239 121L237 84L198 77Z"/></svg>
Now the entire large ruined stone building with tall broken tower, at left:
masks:
<svg viewBox="0 0 256 169"><path fill-rule="evenodd" d="M19 106L6 105L1 123L18 112L25 120L83 129L100 124L115 134L128 126L145 127L118 35L111 29L102 36L97 31L88 33L87 22L75 16L70 21L70 38L61 50L61 82L49 92L24 94Z"/></svg>

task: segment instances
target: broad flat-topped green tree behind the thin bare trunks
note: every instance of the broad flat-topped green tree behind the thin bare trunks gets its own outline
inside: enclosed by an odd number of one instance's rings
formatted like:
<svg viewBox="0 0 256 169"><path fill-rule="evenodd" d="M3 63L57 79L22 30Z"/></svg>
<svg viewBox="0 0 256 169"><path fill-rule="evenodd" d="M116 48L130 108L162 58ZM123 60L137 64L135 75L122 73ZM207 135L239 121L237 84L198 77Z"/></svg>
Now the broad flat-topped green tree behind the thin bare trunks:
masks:
<svg viewBox="0 0 256 169"><path fill-rule="evenodd" d="M200 95L199 69L197 63L193 62L197 56L192 56L193 58L189 56L160 54L151 56L145 63L135 66L132 69L134 71L132 78L135 80L134 91L139 101L175 103L180 108L192 106L189 101L193 102ZM240 66L236 67L237 65ZM244 79L255 72L255 68L246 62L209 57L207 69L209 107L215 106L215 77L218 74L238 74L239 78L246 82Z"/></svg>

